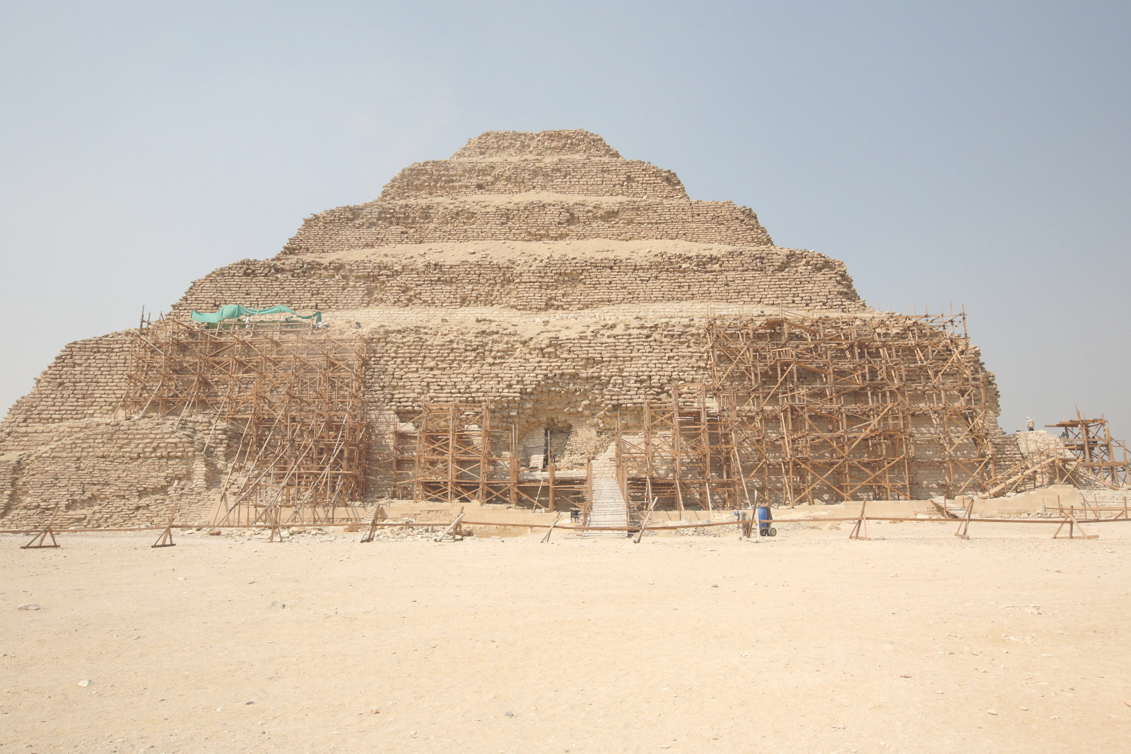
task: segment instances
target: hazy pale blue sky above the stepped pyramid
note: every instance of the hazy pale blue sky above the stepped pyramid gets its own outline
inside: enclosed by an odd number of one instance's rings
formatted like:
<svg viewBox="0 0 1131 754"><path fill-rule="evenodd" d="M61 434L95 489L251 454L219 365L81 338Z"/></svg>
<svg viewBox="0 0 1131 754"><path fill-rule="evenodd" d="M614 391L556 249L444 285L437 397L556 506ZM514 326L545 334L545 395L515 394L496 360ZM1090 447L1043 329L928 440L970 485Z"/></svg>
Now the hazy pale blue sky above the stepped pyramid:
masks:
<svg viewBox="0 0 1131 754"><path fill-rule="evenodd" d="M0 404L484 130L585 128L966 306L1017 429L1131 440L1129 2L0 1Z"/></svg>

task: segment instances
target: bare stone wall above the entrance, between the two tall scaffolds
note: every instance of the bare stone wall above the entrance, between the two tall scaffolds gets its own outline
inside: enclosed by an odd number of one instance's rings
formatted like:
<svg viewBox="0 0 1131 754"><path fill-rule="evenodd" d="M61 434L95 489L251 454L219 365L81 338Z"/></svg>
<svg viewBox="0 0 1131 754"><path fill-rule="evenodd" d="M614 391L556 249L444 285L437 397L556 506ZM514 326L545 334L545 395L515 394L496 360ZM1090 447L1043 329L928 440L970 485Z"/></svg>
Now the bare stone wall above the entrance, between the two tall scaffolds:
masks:
<svg viewBox="0 0 1131 754"><path fill-rule="evenodd" d="M587 323L536 336L489 323L477 329L377 327L366 332L365 380L375 404L490 400L499 409L593 414L642 405L668 385L697 382L707 362L705 320Z"/></svg>

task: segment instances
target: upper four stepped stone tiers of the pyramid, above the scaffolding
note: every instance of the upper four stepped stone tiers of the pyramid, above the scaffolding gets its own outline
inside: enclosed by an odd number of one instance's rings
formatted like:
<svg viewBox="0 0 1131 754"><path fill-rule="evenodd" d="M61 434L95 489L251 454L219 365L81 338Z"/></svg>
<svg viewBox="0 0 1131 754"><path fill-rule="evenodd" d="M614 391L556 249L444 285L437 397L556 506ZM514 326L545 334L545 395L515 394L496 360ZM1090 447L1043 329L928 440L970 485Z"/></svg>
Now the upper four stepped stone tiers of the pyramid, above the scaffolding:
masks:
<svg viewBox="0 0 1131 754"><path fill-rule="evenodd" d="M433 274L437 264L446 274ZM198 281L174 311L235 300L317 309L865 308L839 262L772 246L751 209L690 199L675 173L624 160L582 130L487 131L448 160L409 165L373 202L308 217L274 259Z"/></svg>

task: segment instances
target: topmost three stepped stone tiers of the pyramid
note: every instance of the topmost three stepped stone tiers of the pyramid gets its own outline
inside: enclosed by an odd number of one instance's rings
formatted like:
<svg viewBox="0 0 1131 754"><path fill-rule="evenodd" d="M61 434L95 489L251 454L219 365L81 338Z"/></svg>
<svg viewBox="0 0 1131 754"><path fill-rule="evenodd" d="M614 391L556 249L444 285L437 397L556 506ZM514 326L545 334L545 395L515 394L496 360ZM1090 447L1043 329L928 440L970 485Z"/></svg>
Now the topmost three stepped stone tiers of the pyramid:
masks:
<svg viewBox="0 0 1131 754"><path fill-rule="evenodd" d="M750 209L689 199L674 173L622 158L596 134L489 131L449 160L409 165L373 202L308 219L283 251L595 238L772 243Z"/></svg>

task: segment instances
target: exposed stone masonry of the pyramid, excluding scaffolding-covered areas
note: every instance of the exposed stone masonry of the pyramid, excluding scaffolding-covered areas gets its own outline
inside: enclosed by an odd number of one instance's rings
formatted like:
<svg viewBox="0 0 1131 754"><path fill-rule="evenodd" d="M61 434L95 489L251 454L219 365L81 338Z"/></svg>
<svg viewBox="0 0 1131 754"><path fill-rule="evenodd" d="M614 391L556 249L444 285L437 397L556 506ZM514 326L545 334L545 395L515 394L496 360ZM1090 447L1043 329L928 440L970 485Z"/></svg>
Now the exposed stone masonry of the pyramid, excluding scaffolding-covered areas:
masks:
<svg viewBox="0 0 1131 754"><path fill-rule="evenodd" d="M423 443L429 410L475 405L489 406L492 431L506 426L511 438L506 448L501 435L481 438L497 446L482 473L503 483L506 459L510 504L535 507L542 491L529 486L545 481L547 459L564 477L597 459L605 468L631 455L625 432L645 431L651 406L683 405L692 399L677 397L681 389L706 389L719 374L718 323L761 323L763 333L815 318L841 323L840 332L875 316L840 262L774 246L751 209L691 199L671 171L624 160L584 130L489 131L448 160L409 165L377 199L308 217L274 258L243 259L193 282L169 317L184 323L191 310L230 303L321 310L327 336L363 339L374 438L365 451L368 499L418 497L425 481L406 478L408 462L395 456L412 454L405 442ZM907 327L909 337L929 335L921 324ZM192 520L214 515L236 463L238 428L196 408L175 417L126 411L138 399L130 395L138 343L132 331L71 343L12 406L0 426L0 522L34 523L57 504L64 520L90 525L162 521L178 503ZM978 431L996 431L992 375L962 343L952 346L962 350L961 379L979 386ZM722 421L728 399L700 392L694 400L705 427ZM711 426L705 437L718 435ZM668 430L668 444L679 445L680 431ZM910 425L900 437L913 442ZM974 440L959 452L985 454ZM674 461L683 451L667 453ZM739 468L711 463L702 466L707 478L729 485L719 499L736 504ZM661 465L648 473L682 509L681 463ZM483 481L468 491L468 473L457 497L487 488ZM863 490L826 481L810 486L805 502ZM699 490L688 492L689 505L706 505L715 482L687 483ZM934 471L899 482L916 495L946 483ZM633 490L625 487L629 499ZM580 487L562 495L585 505Z"/></svg>

